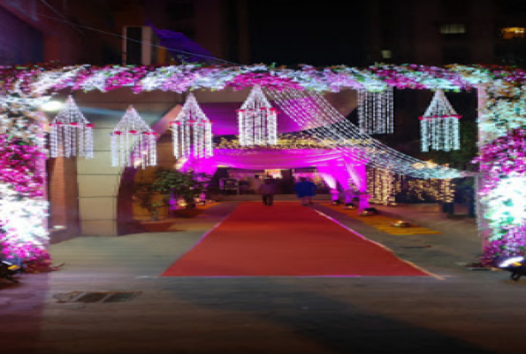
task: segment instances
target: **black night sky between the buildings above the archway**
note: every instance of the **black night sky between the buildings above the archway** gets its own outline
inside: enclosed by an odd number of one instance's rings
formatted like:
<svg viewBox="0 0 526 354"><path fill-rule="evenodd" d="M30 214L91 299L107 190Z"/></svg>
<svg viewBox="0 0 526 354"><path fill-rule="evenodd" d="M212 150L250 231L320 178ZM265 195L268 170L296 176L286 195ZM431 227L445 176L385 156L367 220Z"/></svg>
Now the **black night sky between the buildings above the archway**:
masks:
<svg viewBox="0 0 526 354"><path fill-rule="evenodd" d="M254 63L355 65L362 53L361 2L249 2Z"/></svg>

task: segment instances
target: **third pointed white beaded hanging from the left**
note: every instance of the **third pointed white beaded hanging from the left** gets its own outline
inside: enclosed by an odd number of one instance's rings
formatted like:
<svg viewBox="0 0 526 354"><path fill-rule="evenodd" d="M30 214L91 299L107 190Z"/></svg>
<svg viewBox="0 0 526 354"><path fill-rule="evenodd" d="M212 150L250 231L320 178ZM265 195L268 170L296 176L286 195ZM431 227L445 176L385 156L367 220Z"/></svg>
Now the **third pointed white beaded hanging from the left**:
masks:
<svg viewBox="0 0 526 354"><path fill-rule="evenodd" d="M172 121L172 140L176 158L210 158L213 155L212 124L192 93Z"/></svg>

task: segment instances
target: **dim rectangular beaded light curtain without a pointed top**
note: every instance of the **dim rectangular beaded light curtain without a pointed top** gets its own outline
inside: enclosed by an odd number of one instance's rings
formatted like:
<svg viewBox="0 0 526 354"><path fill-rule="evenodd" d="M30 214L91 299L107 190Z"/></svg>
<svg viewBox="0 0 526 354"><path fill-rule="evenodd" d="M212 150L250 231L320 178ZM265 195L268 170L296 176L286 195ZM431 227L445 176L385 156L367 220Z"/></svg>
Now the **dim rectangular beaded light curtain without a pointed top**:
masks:
<svg viewBox="0 0 526 354"><path fill-rule="evenodd" d="M393 87L358 90L358 122L365 134L393 134Z"/></svg>

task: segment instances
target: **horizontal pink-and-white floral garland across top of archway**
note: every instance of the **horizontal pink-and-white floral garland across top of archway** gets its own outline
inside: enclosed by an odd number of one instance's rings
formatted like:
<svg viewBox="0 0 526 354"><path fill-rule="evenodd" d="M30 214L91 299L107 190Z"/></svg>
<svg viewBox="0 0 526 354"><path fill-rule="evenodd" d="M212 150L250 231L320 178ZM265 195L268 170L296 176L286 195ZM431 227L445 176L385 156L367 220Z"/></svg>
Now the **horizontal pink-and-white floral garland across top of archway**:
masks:
<svg viewBox="0 0 526 354"><path fill-rule="evenodd" d="M154 89L184 92L192 89L243 89L255 84L268 89L315 89L337 91L343 88L473 89L500 81L499 86L520 86L526 72L515 67L495 65L372 65L356 69L344 65L316 68L301 65L299 70L274 65L74 65L56 63L28 66L1 66L0 86L9 91L21 85L22 91L64 89L103 92L132 87L133 92Z"/></svg>

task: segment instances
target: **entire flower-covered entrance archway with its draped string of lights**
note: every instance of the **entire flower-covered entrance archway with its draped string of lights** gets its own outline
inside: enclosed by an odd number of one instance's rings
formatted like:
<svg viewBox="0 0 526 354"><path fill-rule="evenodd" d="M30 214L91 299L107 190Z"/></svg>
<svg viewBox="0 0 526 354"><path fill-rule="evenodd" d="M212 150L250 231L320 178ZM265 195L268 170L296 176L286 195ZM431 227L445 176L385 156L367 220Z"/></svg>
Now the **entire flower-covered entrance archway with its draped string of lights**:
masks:
<svg viewBox="0 0 526 354"><path fill-rule="evenodd" d="M185 92L194 89L243 89L259 85L276 93L303 92L326 110L327 119L334 115L318 93L340 89L382 91L396 89L443 89L479 91L479 144L481 177L481 227L489 235L484 250L486 258L516 254L524 245L524 203L522 194L503 196L504 184L522 181L526 72L513 67L493 65L373 65L354 68L344 65L316 68L302 65L299 69L273 65L203 66L203 65L27 65L0 68L0 241L2 251L21 258L45 258L47 211L44 188L42 116L37 107L60 89L99 90L129 87L133 92L164 90ZM293 110L294 107L291 107ZM354 127L339 124L340 119L325 123L319 141L334 149L353 146L354 158L379 168L424 178L454 178L467 175L437 165L426 165L370 138L356 133ZM306 120L304 122L308 124ZM350 132L340 136L340 132ZM506 145L510 149L497 151ZM505 166L506 168L502 168ZM505 174L508 173L508 174ZM513 181L512 181L513 180ZM519 183L520 184L520 183ZM514 212L502 212L513 205ZM519 208L520 212L517 212ZM24 223L20 220L31 220Z"/></svg>

